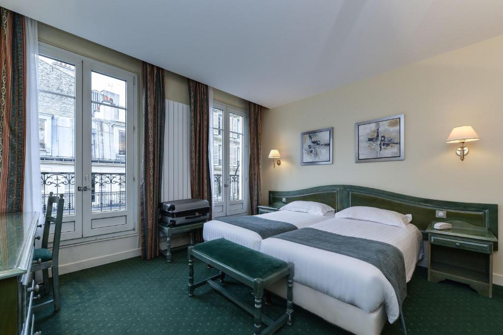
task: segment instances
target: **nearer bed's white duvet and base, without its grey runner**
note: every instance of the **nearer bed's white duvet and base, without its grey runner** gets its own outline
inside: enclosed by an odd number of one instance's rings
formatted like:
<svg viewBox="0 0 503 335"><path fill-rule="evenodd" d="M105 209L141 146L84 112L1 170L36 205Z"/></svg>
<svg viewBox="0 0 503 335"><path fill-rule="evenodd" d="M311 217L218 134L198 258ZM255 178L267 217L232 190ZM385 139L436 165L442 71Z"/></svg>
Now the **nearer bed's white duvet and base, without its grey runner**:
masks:
<svg viewBox="0 0 503 335"><path fill-rule="evenodd" d="M404 256L407 282L423 257L421 232L348 218L333 218L311 228L385 242ZM276 239L262 241L260 251L295 264L294 303L357 334L378 334L387 319L399 316L395 292L382 272L358 259ZM285 296L283 283L268 288Z"/></svg>

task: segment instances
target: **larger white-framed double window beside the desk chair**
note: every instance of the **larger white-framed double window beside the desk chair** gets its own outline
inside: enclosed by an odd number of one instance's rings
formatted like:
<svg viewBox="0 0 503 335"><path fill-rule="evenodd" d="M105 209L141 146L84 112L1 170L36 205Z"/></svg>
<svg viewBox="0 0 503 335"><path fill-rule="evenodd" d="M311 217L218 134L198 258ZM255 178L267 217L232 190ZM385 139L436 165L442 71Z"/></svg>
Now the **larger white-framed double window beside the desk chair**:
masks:
<svg viewBox="0 0 503 335"><path fill-rule="evenodd" d="M50 192L64 194L63 240L133 232L136 75L44 43L39 52L44 211Z"/></svg>

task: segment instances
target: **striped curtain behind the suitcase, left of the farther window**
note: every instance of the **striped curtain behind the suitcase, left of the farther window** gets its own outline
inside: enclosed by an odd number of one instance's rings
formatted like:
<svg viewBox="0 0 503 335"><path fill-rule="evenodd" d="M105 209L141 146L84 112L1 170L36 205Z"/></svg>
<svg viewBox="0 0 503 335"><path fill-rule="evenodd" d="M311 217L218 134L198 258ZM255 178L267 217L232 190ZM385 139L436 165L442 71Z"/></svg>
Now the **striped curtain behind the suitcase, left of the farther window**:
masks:
<svg viewBox="0 0 503 335"><path fill-rule="evenodd" d="M210 202L211 218L211 177L208 157L209 141L209 95L208 85L189 79L189 104L191 116L190 144L190 189L194 199ZM202 232L194 234L196 242L201 242Z"/></svg>

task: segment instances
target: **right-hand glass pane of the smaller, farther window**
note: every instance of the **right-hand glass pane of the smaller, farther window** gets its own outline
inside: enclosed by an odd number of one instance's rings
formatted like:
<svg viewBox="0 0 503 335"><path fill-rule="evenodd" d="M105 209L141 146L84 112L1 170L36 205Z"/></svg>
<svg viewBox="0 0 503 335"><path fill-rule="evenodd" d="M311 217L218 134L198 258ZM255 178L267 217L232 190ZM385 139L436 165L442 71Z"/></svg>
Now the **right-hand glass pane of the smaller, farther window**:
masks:
<svg viewBox="0 0 503 335"><path fill-rule="evenodd" d="M229 113L229 200L242 199L242 128L243 117Z"/></svg>

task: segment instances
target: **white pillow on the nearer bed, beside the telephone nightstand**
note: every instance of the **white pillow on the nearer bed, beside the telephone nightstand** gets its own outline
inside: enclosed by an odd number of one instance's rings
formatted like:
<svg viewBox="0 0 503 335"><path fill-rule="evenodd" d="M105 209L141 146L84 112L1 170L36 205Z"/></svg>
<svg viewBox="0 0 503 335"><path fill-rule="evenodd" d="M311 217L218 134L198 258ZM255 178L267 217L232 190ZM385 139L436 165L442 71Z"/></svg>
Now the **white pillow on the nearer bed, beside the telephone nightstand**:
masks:
<svg viewBox="0 0 503 335"><path fill-rule="evenodd" d="M389 226L405 228L412 221L411 214L401 214L392 210L367 206L354 206L336 213L336 218L353 218L379 222Z"/></svg>

